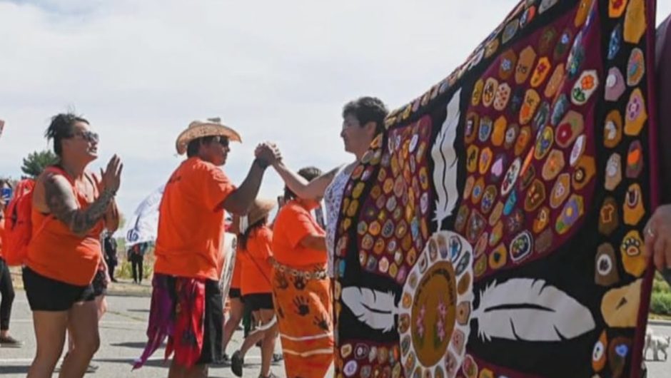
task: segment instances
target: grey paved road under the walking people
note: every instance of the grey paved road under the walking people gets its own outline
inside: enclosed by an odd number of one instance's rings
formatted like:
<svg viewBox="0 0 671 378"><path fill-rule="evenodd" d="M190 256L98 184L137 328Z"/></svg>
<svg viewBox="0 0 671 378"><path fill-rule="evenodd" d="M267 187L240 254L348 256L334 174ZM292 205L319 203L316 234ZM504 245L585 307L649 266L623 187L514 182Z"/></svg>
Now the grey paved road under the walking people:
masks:
<svg viewBox="0 0 671 378"><path fill-rule="evenodd" d="M101 349L94 357L94 364L99 364L99 371L88 374L91 378L111 377L166 377L167 368L163 366L161 356L163 349L154 354L148 366L131 372L133 359L139 356L146 337L144 336L146 319L149 309L148 297L109 297L110 312L105 315L101 324ZM17 292L12 314L11 330L15 337L24 340L21 349L0 349L0 375L4 377L25 377L35 350L31 314L24 292ZM671 327L653 325L656 334L671 336ZM228 352L237 349L241 343L242 332L236 332ZM279 351L279 342L278 342ZM669 351L671 354L671 350ZM648 355L652 359L652 352ZM252 349L246 357L248 366L245 368L246 378L258 377L260 351ZM671 359L666 362L647 362L649 378L671 378ZM284 367L273 367L278 377L284 376ZM235 377L228 367L213 367L211 377ZM56 375L54 374L54 377Z"/></svg>

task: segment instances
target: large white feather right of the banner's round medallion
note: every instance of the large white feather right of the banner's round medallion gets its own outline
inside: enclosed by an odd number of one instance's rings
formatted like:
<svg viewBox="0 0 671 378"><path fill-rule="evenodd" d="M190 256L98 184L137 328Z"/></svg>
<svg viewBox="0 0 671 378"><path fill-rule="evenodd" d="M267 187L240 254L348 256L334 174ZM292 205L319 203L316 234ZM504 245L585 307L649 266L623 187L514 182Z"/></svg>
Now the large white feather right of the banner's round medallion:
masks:
<svg viewBox="0 0 671 378"><path fill-rule="evenodd" d="M473 312L478 336L530 342L573 339L594 330L587 307L543 280L518 278L500 285L496 281L480 292L480 306Z"/></svg>

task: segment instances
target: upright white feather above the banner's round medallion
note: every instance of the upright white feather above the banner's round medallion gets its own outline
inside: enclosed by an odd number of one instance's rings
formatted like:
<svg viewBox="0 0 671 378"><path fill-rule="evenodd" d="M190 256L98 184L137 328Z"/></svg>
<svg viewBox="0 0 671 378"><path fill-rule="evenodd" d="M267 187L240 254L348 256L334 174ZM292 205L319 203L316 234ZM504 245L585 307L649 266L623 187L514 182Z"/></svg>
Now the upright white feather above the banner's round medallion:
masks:
<svg viewBox="0 0 671 378"><path fill-rule="evenodd" d="M457 128L461 115L460 106L461 89L456 91L450 103L448 103L448 114L443 122L438 136L435 138L433 148L431 148L431 158L433 158L433 185L438 199L435 201L435 218L438 224L443 223L445 218L452 215L459 193L457 189L457 153L454 149L454 142L457 138Z"/></svg>

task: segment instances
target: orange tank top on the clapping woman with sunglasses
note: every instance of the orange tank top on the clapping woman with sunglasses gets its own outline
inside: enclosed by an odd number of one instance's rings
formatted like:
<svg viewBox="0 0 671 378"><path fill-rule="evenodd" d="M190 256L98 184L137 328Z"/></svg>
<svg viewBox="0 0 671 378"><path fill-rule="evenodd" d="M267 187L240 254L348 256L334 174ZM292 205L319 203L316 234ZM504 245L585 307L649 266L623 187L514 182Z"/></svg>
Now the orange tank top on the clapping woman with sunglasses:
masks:
<svg viewBox="0 0 671 378"><path fill-rule="evenodd" d="M60 173L58 173L60 174ZM67 177L66 177L67 178ZM95 180L86 174L94 187L94 198L98 198ZM70 181L70 179L68 178ZM72 181L70 181L72 185ZM80 209L91 203L73 185L72 190ZM101 258L100 234L105 227L103 220L84 236L78 236L51 214L42 214L35 208L31 215L33 238L28 245L26 265L39 275L70 285L86 286L96 275ZM46 223L44 223L46 222ZM42 228L44 224L44 228ZM39 230L39 228L42 228ZM39 230L39 232L38 232Z"/></svg>

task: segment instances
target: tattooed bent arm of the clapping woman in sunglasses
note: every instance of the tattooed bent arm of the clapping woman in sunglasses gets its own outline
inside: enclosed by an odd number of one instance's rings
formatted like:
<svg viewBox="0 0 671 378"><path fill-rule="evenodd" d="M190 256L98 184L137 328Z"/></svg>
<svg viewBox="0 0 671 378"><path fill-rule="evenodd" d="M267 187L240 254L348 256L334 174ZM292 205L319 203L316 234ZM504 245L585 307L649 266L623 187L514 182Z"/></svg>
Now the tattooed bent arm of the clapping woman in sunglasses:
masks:
<svg viewBox="0 0 671 378"><path fill-rule="evenodd" d="M44 181L46 205L51 214L65 223L73 233L86 235L105 216L114 198L114 193L110 190L103 190L99 198L88 208L79 209L69 183L58 180L56 177L53 175Z"/></svg>

